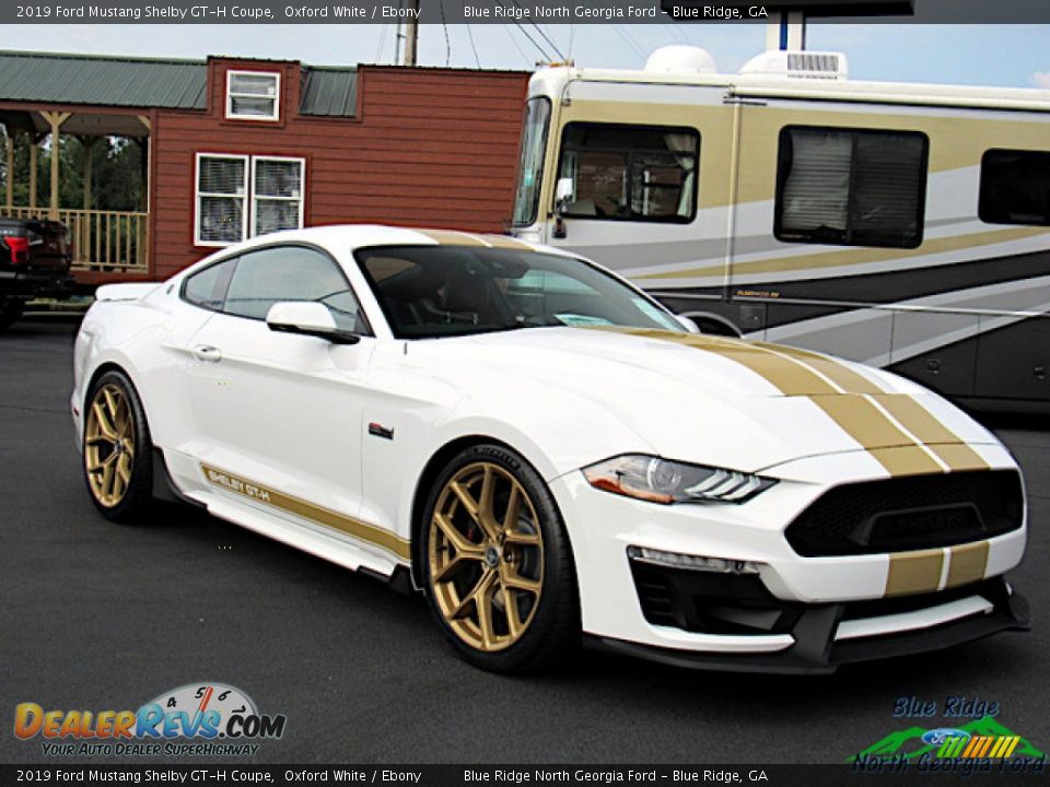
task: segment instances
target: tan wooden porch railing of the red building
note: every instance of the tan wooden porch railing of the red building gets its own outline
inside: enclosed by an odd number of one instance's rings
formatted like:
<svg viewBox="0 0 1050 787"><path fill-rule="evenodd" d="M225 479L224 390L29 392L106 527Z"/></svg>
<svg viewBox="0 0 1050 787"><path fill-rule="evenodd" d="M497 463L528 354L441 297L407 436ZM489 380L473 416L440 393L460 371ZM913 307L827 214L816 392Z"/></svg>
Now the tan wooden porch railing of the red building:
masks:
<svg viewBox="0 0 1050 787"><path fill-rule="evenodd" d="M0 209L18 219L48 219L47 208L15 205ZM149 213L61 209L58 220L69 227L73 268L104 272L148 271Z"/></svg>

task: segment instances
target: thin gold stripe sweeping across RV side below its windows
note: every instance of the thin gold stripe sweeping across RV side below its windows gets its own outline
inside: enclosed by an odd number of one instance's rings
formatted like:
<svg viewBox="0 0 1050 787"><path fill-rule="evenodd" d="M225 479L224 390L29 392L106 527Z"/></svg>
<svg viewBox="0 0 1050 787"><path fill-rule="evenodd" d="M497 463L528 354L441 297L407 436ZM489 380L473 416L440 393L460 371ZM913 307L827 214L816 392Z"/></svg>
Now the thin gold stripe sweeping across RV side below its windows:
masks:
<svg viewBox="0 0 1050 787"><path fill-rule="evenodd" d="M958 251L959 249L991 246L1007 240L1050 235L1045 227L1010 227L989 232L970 233L968 235L950 235L947 237L929 238L913 249L887 248L849 248L839 251L819 251L817 254L800 255L796 257L773 257L751 262L734 262L734 275L752 273L789 273L805 270L820 270L826 268L844 268L870 262L889 262L891 260L922 257L925 255ZM725 263L692 268L690 270L667 271L666 273L650 273L635 275L639 281L657 281L661 279L691 279L701 277L721 277L725 274Z"/></svg>

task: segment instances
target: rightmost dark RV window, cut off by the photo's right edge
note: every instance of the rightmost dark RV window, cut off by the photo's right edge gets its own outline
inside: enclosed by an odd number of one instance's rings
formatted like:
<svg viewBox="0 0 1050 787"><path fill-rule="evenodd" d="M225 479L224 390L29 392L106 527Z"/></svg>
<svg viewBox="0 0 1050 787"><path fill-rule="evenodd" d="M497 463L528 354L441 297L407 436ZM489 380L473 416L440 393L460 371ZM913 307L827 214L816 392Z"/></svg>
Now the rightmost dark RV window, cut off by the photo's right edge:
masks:
<svg viewBox="0 0 1050 787"><path fill-rule="evenodd" d="M989 224L1050 226L1050 153L988 151L981 158L978 215Z"/></svg>

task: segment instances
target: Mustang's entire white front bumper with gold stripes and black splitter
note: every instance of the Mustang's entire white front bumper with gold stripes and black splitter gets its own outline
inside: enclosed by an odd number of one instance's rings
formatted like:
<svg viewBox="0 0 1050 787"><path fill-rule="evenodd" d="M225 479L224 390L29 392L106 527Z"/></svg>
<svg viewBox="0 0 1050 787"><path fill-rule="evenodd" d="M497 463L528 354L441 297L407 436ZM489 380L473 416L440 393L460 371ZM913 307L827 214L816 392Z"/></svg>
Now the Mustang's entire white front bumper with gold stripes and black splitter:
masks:
<svg viewBox="0 0 1050 787"><path fill-rule="evenodd" d="M1016 469L1001 447L982 446L982 453L993 469ZM850 454L833 465L807 460L793 470L793 480L739 506L661 506L594 490L579 472L553 479L592 644L693 666L828 672L847 661L1027 627L1023 599L1010 596L1005 584L1002 590L982 584L1002 584L1020 562L1024 525L943 549L805 556L788 542L789 524L830 488L872 474ZM747 563L757 574L731 580L707 573L734 585L720 589L705 579L700 589L679 587L679 596L691 592L703 602L679 598L662 618L639 585L630 556L638 548ZM981 592L970 592L978 585ZM712 596L721 599L712 603Z"/></svg>

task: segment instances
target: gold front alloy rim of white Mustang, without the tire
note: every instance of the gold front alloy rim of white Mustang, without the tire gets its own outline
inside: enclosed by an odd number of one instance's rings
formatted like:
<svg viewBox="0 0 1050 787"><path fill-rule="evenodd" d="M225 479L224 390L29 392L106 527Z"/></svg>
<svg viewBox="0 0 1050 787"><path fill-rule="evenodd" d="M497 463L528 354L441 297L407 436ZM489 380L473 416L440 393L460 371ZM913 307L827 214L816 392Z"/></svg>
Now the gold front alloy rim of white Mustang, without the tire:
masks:
<svg viewBox="0 0 1050 787"><path fill-rule="evenodd" d="M438 495L428 544L442 618L478 650L516 643L536 615L544 587L544 538L521 482L479 461Z"/></svg>

